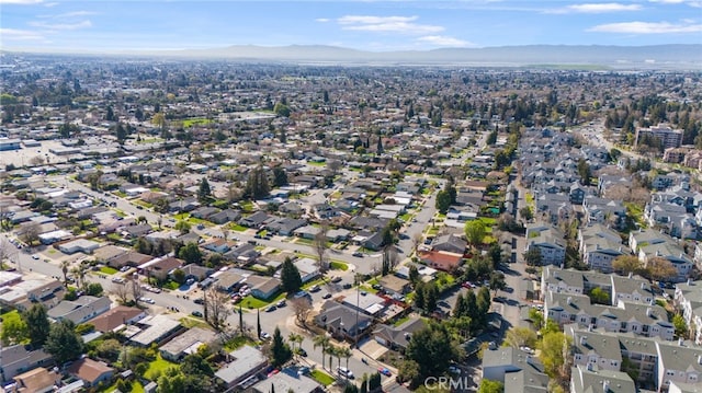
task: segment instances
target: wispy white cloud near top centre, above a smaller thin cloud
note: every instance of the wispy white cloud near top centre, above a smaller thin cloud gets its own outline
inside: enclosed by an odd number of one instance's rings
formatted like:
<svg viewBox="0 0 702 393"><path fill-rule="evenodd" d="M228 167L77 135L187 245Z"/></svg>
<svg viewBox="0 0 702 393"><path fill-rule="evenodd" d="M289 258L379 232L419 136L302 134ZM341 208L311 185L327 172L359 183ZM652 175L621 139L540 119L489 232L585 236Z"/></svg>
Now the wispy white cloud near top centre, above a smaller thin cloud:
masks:
<svg viewBox="0 0 702 393"><path fill-rule="evenodd" d="M337 20L343 30L399 33L407 35L435 34L444 31L443 26L412 23L418 16L371 16L346 15Z"/></svg>

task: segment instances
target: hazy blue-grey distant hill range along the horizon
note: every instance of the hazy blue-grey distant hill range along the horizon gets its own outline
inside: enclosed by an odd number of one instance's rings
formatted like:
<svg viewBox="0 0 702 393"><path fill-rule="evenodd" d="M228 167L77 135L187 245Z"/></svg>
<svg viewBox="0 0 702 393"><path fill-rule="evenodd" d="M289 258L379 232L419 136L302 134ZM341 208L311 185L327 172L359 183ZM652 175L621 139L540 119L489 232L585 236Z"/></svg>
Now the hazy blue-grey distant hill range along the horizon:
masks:
<svg viewBox="0 0 702 393"><path fill-rule="evenodd" d="M135 55L135 53L131 53ZM141 53L140 55L147 55ZM702 68L702 45L569 46L530 45L445 48L415 51L364 51L333 46L253 45L212 49L163 50L151 56L220 58L312 63L507 66L581 65L613 68Z"/></svg>

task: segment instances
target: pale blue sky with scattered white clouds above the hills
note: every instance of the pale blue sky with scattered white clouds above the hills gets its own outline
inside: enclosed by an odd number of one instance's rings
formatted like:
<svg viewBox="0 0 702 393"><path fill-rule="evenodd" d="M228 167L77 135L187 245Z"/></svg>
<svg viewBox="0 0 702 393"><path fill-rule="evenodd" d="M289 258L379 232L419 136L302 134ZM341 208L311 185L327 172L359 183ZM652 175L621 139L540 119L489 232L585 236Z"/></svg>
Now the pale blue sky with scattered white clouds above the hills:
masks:
<svg viewBox="0 0 702 393"><path fill-rule="evenodd" d="M0 48L702 44L702 0L0 0Z"/></svg>

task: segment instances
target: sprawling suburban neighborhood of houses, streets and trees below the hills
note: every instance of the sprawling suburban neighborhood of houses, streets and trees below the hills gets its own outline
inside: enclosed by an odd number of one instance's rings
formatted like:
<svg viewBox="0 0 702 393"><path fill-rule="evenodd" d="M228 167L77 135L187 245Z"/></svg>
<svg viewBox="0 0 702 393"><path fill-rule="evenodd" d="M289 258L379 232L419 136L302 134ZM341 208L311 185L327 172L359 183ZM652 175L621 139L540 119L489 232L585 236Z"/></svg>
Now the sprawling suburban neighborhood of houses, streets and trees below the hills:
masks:
<svg viewBox="0 0 702 393"><path fill-rule="evenodd" d="M699 73L1 56L2 392L702 390Z"/></svg>

